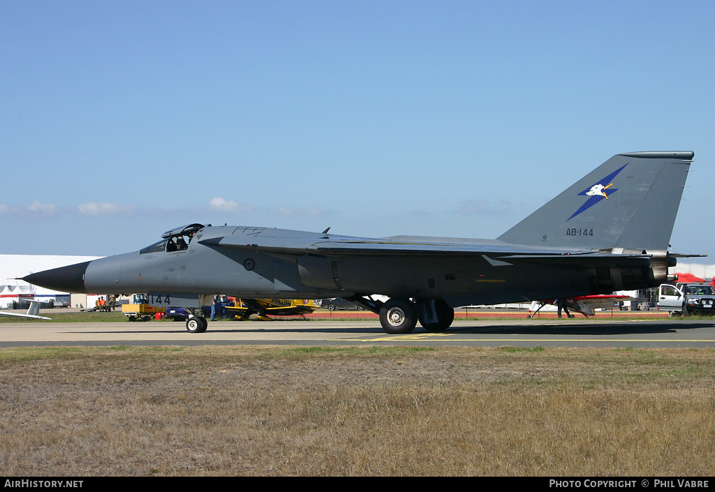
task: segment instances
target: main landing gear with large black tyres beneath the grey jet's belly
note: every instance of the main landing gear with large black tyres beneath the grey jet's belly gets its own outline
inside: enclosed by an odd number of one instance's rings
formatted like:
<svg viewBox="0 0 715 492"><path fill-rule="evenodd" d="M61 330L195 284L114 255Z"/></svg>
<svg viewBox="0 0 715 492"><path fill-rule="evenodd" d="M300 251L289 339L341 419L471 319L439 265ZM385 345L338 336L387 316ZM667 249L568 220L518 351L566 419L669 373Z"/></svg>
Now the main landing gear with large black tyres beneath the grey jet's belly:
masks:
<svg viewBox="0 0 715 492"><path fill-rule="evenodd" d="M380 325L390 334L412 333L417 322L430 332L447 330L454 321L454 308L442 299L416 301L393 297L385 302L370 297L354 296L348 300L380 315Z"/></svg>

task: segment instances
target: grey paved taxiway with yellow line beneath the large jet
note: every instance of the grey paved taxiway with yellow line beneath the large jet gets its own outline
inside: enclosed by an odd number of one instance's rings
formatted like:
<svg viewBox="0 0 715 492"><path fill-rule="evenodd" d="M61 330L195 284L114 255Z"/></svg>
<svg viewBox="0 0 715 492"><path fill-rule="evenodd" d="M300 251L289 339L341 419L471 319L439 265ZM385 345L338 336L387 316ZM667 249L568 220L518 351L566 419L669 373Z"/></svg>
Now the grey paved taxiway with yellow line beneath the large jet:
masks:
<svg viewBox="0 0 715 492"><path fill-rule="evenodd" d="M388 335L377 320L209 323L0 323L0 347L43 345L475 345L542 347L715 347L714 320L456 320L443 333L420 326Z"/></svg>

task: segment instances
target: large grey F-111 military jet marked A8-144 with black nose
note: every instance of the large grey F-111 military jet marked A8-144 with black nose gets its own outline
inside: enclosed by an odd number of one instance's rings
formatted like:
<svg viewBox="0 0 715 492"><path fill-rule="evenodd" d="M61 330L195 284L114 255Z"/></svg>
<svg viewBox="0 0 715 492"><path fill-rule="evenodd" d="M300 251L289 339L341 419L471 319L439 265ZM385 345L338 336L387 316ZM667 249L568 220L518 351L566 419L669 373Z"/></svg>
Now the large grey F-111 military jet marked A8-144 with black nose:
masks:
<svg viewBox="0 0 715 492"><path fill-rule="evenodd" d="M454 308L655 287L693 152L616 154L495 240L379 239L192 224L137 252L38 272L62 292L344 297L387 333L449 328ZM384 295L386 301L373 300ZM187 330L203 332L200 310Z"/></svg>

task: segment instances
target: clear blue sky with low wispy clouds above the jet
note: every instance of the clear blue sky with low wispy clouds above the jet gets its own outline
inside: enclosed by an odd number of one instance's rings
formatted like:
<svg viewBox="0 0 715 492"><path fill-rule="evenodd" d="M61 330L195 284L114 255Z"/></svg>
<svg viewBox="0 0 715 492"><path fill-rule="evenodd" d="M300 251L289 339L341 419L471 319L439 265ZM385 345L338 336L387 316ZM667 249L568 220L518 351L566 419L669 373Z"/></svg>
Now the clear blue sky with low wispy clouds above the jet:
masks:
<svg viewBox="0 0 715 492"><path fill-rule="evenodd" d="M493 238L619 152L693 150L715 262L715 2L0 1L1 252L190 222Z"/></svg>

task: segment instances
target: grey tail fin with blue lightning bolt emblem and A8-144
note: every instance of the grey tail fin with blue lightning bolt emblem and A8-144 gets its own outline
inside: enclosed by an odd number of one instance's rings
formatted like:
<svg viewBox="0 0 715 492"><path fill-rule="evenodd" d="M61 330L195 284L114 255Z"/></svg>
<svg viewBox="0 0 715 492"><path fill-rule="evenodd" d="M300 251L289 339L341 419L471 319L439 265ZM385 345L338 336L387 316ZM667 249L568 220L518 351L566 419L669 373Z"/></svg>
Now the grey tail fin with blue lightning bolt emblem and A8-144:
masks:
<svg viewBox="0 0 715 492"><path fill-rule="evenodd" d="M499 240L518 245L666 250L693 152L617 154Z"/></svg>

